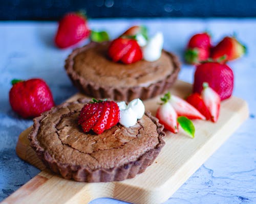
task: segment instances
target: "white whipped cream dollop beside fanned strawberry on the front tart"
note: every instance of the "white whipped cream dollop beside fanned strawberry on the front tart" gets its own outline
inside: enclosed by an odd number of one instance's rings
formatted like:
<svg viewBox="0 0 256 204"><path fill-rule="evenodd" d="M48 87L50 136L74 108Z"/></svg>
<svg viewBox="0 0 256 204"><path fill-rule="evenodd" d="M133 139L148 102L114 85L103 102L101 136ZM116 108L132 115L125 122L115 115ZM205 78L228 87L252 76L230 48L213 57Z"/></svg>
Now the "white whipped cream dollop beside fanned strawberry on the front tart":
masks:
<svg viewBox="0 0 256 204"><path fill-rule="evenodd" d="M120 109L119 123L125 127L131 127L136 124L145 112L145 106L139 98L132 100L128 105L124 101L117 103Z"/></svg>

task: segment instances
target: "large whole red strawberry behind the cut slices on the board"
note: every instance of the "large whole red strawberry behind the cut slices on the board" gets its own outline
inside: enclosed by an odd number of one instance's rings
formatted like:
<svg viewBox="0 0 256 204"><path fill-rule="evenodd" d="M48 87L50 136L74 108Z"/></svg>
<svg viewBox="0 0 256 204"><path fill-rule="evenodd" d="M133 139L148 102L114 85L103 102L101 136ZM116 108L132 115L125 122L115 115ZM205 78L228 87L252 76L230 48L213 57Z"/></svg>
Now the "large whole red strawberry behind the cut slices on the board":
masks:
<svg viewBox="0 0 256 204"><path fill-rule="evenodd" d="M207 82L221 97L229 98L233 91L234 76L232 69L226 64L206 62L198 65L194 77L194 92L201 93L203 83Z"/></svg>

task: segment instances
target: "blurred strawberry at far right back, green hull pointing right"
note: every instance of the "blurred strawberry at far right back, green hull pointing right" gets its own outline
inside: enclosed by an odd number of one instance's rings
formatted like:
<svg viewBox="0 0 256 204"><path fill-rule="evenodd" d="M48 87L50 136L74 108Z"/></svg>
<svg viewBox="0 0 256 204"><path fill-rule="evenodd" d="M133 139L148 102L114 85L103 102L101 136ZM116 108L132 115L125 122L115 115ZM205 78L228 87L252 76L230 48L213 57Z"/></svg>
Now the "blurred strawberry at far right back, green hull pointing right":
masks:
<svg viewBox="0 0 256 204"><path fill-rule="evenodd" d="M212 49L211 58L217 60L225 56L222 62L226 62L240 58L245 53L246 47L235 37L225 37Z"/></svg>

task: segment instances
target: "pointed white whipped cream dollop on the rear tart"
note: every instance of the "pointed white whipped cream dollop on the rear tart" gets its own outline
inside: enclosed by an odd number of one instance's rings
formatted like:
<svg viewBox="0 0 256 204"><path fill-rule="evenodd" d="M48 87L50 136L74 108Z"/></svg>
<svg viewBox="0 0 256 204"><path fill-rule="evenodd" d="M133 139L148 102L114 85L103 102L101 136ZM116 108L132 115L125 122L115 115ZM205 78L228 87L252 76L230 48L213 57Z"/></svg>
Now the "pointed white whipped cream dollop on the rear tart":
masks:
<svg viewBox="0 0 256 204"><path fill-rule="evenodd" d="M143 58L146 61L153 62L161 57L163 48L163 34L161 32L156 33L147 44L142 47Z"/></svg>

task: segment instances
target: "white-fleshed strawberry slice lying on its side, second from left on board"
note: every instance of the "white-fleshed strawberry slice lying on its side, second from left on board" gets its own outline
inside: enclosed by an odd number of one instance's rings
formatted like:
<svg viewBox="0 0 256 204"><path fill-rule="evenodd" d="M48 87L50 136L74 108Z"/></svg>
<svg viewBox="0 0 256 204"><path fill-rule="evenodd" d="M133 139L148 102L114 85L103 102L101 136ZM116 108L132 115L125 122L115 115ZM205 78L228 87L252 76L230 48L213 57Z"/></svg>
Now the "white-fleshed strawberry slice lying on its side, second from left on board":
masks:
<svg viewBox="0 0 256 204"><path fill-rule="evenodd" d="M169 92L167 94L169 94ZM169 103L172 104L178 116L185 116L188 119L205 120L205 117L195 107L191 106L187 101L178 96L170 96Z"/></svg>

